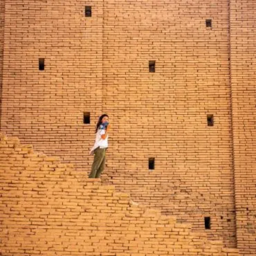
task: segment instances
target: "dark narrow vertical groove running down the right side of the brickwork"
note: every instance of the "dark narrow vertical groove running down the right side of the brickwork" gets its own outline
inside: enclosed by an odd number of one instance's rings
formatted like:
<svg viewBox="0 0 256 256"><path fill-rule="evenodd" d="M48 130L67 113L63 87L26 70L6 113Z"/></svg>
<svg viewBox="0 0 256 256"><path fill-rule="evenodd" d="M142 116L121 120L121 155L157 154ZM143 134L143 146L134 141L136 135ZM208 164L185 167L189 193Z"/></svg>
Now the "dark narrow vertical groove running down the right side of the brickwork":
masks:
<svg viewBox="0 0 256 256"><path fill-rule="evenodd" d="M233 130L233 100L232 100L232 68L231 68L231 0L228 0L228 57L229 57L229 84L230 84L230 119L231 119L231 137L232 137L232 173L234 185L234 210L235 210L235 235L237 247L237 229L236 229L236 180L235 180L235 164L234 164L234 130Z"/></svg>

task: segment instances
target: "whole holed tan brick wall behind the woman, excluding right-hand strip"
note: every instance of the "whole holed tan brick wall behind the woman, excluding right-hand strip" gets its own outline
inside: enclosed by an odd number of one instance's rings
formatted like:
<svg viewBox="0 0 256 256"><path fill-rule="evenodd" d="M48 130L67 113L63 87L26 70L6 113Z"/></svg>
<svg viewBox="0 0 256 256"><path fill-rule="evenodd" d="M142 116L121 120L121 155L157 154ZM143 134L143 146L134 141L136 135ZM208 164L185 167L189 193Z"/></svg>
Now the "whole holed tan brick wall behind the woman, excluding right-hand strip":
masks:
<svg viewBox="0 0 256 256"><path fill-rule="evenodd" d="M1 129L88 172L108 112L103 179L194 230L211 216L209 238L236 246L228 1L7 0L5 14Z"/></svg>

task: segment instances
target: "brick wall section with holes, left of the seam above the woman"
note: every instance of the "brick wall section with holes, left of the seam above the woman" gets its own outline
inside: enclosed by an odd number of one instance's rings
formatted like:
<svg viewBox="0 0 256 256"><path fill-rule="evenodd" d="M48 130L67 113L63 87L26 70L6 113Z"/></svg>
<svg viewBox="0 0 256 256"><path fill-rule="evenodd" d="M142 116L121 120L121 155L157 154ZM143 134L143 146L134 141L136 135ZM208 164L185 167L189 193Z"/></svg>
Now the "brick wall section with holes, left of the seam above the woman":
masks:
<svg viewBox="0 0 256 256"><path fill-rule="evenodd" d="M5 1L1 129L84 168L95 129L84 112L95 123L102 111L102 1L93 6L86 18L84 1Z"/></svg>

